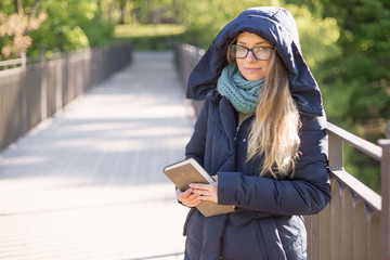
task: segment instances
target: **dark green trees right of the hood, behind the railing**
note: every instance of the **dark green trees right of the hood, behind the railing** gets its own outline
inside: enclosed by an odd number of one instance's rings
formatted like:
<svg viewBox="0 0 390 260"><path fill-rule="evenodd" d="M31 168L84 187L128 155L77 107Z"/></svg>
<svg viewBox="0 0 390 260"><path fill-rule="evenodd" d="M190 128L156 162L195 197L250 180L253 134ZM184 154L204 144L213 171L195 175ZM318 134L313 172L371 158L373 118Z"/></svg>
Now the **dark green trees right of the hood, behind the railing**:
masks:
<svg viewBox="0 0 390 260"><path fill-rule="evenodd" d="M339 55L320 66L328 120L374 143L390 119L390 2L289 0L337 21ZM346 147L346 168L379 192L379 166Z"/></svg>

